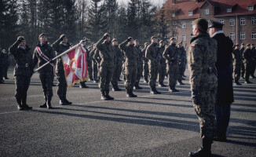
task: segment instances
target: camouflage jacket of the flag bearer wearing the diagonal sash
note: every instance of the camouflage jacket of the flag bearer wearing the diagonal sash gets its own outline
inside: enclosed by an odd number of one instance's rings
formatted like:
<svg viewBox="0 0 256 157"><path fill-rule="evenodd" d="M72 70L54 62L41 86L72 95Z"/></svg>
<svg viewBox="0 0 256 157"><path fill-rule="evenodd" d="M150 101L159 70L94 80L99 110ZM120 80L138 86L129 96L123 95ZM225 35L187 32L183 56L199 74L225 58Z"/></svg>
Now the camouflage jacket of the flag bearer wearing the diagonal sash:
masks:
<svg viewBox="0 0 256 157"><path fill-rule="evenodd" d="M48 57L49 59L53 59L55 57L54 49L53 49L52 46L49 46L48 43L42 44L42 45L39 43L37 46L41 49L42 53L46 57ZM35 68L36 64L38 64L38 68L39 68L40 66L42 66L43 64L46 64L46 63L47 63L47 61L44 60L38 54L38 51L35 48L34 54L33 54L33 66L34 66L34 68ZM53 63L53 64L55 64L55 63ZM41 73L41 72L53 72L53 66L51 64L48 64L48 65L46 65L46 67L40 69L38 72L39 73Z"/></svg>

